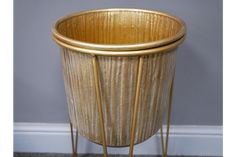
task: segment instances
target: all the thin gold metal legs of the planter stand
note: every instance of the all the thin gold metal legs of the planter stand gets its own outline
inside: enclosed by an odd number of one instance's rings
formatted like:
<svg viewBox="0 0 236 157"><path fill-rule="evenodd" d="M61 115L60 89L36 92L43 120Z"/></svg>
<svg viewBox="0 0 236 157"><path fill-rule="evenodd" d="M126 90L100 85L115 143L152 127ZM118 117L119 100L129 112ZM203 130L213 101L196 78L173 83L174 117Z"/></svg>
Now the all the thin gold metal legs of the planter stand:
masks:
<svg viewBox="0 0 236 157"><path fill-rule="evenodd" d="M100 127L100 134L102 138L103 144L103 155L104 157L108 156L107 153L107 144L106 144L106 134L104 128L104 120L102 114L102 97L101 97L101 85L100 85L100 78L99 78L99 71L98 71L98 63L97 57L92 57L92 65L93 65L93 72L94 72L94 80L95 80L95 87L96 87L96 95L97 95L97 102L98 102L98 113L99 113L99 127ZM143 56L139 57L138 63L138 75L137 75L137 84L136 84L136 92L135 92L135 101L134 101L134 113L132 116L131 128L130 128L130 149L129 149L129 157L133 157L133 149L134 149L134 140L135 140L135 132L136 132L136 124L137 124L137 112L138 112L138 104L139 104L139 93L140 93L140 85L141 85L141 78L142 78L142 67L143 67ZM168 107L168 119L167 119L167 131L166 131L166 138L164 142L163 136L163 127L161 127L161 145L162 145L162 156L167 157L167 148L168 148L168 141L169 141L169 129L170 129L170 117L171 117L171 108L172 108L172 94L173 94L173 84L174 84L174 77L171 83L170 89L170 100L169 100L169 107ZM73 135L73 126L70 123L71 127L71 141L72 141L72 157L77 157L77 145L78 145L78 130L76 130L76 140L74 143L74 135Z"/></svg>

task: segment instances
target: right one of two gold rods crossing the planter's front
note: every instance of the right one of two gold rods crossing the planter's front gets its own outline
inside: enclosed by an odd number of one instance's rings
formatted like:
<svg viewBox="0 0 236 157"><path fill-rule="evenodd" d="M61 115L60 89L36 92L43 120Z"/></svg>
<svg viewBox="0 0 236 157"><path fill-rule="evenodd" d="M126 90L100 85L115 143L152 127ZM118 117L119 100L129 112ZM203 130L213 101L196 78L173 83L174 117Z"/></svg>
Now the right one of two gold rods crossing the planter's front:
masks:
<svg viewBox="0 0 236 157"><path fill-rule="evenodd" d="M136 124L137 124L137 112L138 112L138 104L139 104L139 93L140 93L140 85L142 78L142 68L143 68L143 57L139 58L138 64L138 75L137 75L137 84L136 84L136 93L135 93L135 101L134 101L134 112L131 123L131 132L130 132L130 149L129 149L129 157L133 157L133 149L134 149L134 140L135 140L135 132L136 132Z"/></svg>

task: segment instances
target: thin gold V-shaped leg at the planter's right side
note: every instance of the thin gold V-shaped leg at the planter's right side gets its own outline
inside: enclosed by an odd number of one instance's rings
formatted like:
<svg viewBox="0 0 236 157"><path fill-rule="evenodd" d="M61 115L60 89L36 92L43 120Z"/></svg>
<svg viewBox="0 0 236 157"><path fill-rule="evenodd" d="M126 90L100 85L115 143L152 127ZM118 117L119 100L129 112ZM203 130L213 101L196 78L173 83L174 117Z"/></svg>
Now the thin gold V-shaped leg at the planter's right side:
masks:
<svg viewBox="0 0 236 157"><path fill-rule="evenodd" d="M170 88L170 100L169 100L169 107L168 107L168 119L167 119L165 143L164 143L164 137L163 137L163 127L161 126L161 146L162 146L162 156L163 157L167 157L167 150L168 150L169 132L170 132L170 118L171 118L171 110L172 110L173 86L174 86L174 77L173 77L173 80L171 83L171 88Z"/></svg>

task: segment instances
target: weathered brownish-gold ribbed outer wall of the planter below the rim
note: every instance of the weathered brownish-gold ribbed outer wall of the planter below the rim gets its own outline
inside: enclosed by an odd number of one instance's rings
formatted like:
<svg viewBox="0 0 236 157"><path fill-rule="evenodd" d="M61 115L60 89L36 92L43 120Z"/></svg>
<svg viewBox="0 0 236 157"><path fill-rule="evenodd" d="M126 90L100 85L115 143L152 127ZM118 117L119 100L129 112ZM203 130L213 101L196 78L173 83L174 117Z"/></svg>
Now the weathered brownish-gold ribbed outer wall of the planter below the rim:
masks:
<svg viewBox="0 0 236 157"><path fill-rule="evenodd" d="M81 135L100 138L92 56L62 49L69 115ZM98 57L106 141L127 146L135 97L138 57ZM143 63L135 143L154 135L168 107L175 53L146 56Z"/></svg>

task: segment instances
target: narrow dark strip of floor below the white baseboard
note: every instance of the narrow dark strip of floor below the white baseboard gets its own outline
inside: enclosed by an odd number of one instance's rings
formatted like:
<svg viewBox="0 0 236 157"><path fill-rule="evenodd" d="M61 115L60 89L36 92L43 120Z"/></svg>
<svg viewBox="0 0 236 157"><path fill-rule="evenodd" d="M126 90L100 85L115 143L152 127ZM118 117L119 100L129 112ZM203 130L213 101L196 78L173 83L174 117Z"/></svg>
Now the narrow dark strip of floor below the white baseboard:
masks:
<svg viewBox="0 0 236 157"><path fill-rule="evenodd" d="M71 154L50 153L14 153L14 157L72 157ZM102 154L79 154L78 157L103 157ZM128 157L128 155L109 155L109 157ZM135 157L161 157L157 155L135 155ZM169 156L169 157L199 157L199 156ZM206 156L201 156L206 157Z"/></svg>

